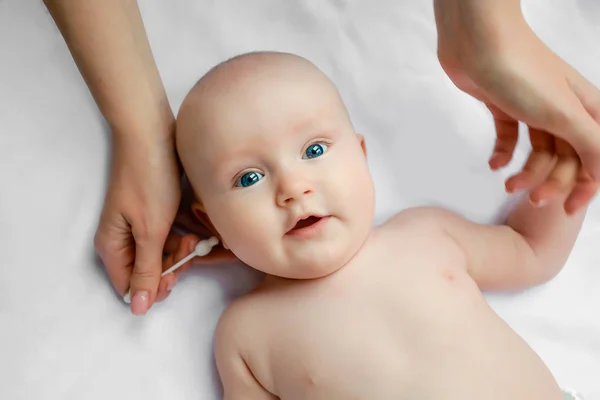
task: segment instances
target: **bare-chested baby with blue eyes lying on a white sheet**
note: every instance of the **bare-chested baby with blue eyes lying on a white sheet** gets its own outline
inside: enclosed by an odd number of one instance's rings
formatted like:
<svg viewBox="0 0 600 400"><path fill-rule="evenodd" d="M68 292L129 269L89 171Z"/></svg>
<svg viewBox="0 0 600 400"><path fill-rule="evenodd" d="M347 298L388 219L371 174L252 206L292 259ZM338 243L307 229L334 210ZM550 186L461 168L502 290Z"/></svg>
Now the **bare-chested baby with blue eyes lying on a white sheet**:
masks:
<svg viewBox="0 0 600 400"><path fill-rule="evenodd" d="M422 207L373 228L364 138L333 83L291 54L213 68L176 131L198 217L266 273L216 330L225 399L567 397L482 291L554 277L585 211L523 201L488 226Z"/></svg>

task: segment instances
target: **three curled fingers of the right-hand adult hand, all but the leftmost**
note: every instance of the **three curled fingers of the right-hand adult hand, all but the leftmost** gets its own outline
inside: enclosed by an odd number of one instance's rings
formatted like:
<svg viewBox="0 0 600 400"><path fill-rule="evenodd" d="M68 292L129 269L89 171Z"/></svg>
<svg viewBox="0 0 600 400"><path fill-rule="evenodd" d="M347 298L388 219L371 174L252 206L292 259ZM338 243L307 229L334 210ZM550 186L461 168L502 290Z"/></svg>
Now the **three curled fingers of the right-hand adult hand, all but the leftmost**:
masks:
<svg viewBox="0 0 600 400"><path fill-rule="evenodd" d="M529 128L529 139L529 158L521 172L506 180L507 192L530 190L529 199L537 207L560 199L567 214L589 203L598 184L582 168L575 150L564 140L533 128Z"/></svg>

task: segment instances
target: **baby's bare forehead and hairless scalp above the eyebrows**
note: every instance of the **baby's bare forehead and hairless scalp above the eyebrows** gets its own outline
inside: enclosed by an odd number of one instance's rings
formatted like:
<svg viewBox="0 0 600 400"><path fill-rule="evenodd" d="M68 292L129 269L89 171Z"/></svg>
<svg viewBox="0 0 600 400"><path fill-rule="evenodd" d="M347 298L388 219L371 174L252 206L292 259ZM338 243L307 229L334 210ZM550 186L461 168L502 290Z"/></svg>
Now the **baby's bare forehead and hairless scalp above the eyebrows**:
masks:
<svg viewBox="0 0 600 400"><path fill-rule="evenodd" d="M180 141L212 163L219 154L269 140L285 143L347 118L326 75L308 61L292 61L259 58L207 73L180 110Z"/></svg>

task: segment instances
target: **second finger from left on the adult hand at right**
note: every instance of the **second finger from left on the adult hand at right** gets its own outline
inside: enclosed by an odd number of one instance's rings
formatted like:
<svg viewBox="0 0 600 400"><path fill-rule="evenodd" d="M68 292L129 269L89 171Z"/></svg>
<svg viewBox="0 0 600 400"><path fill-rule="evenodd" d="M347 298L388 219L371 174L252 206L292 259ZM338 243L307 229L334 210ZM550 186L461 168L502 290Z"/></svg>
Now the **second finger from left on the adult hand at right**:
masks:
<svg viewBox="0 0 600 400"><path fill-rule="evenodd" d="M529 129L531 153L521 172L506 180L509 193L530 189L541 182L555 162L553 137L537 129Z"/></svg>

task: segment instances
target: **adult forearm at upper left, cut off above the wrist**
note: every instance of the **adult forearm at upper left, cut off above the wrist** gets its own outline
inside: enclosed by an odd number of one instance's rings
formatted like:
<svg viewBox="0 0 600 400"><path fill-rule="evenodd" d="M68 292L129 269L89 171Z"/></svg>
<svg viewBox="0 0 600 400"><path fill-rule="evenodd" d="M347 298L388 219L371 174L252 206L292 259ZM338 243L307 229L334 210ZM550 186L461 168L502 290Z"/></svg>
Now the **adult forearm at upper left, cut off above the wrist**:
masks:
<svg viewBox="0 0 600 400"><path fill-rule="evenodd" d="M135 0L45 0L114 134L172 134L173 113Z"/></svg>

